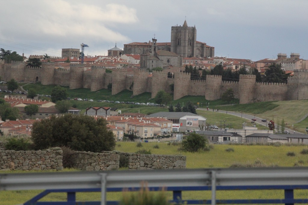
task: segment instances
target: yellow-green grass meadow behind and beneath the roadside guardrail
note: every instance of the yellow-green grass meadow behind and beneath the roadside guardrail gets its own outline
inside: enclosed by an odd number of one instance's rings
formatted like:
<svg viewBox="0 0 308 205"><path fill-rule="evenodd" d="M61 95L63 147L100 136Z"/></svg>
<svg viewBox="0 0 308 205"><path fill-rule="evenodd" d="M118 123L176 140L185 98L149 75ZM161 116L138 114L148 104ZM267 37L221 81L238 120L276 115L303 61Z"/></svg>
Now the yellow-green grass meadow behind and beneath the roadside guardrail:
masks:
<svg viewBox="0 0 308 205"><path fill-rule="evenodd" d="M153 148L158 144L159 148ZM286 146L279 147L267 145L214 145L211 151L201 151L197 153L181 152L179 145L168 145L167 143L142 143L142 147L137 147L134 142L118 142L115 150L121 152L136 152L139 149L151 150L153 154L171 154L185 155L187 157L187 168L229 168L233 164L254 164L255 161L261 162L267 166L294 167L295 164L308 166L308 155L302 155L300 152L306 146ZM227 148L233 148L234 152L226 152ZM294 152L295 156L287 156L288 152ZM76 170L65 170L76 171ZM248 170L247 170L248 171ZM9 172L14 173L14 172ZM15 205L24 203L31 199L42 190L34 191L0 191L0 205ZM217 191L217 199L266 199L269 197L283 198L283 191ZM108 200L119 200L121 193L108 193ZM306 191L295 190L295 198L305 198ZM172 193L168 192L169 199ZM184 191L183 199L210 199L210 191ZM54 193L47 195L42 201L63 201L66 199L64 193ZM99 201L100 193L78 193L78 201Z"/></svg>

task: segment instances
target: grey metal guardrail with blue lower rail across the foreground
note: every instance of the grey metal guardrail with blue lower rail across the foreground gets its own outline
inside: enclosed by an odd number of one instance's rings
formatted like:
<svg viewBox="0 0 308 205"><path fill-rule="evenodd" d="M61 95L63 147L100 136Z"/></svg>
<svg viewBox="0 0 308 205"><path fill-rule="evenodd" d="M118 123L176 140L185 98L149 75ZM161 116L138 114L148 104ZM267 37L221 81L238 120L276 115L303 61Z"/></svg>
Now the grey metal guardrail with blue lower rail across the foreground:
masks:
<svg viewBox="0 0 308 205"><path fill-rule="evenodd" d="M76 192L100 191L101 202L82 204L118 204L106 202L107 191L136 191L147 182L151 191L162 187L173 191L172 202L187 204L216 203L308 203L306 199L294 199L294 189L308 189L308 168L238 168L238 169L178 169L143 171L90 171L0 174L1 190L47 189L28 204L81 204L75 201ZM217 190L285 190L284 199L216 199ZM211 200L184 200L182 191L211 190ZM37 202L50 192L67 192L67 202Z"/></svg>

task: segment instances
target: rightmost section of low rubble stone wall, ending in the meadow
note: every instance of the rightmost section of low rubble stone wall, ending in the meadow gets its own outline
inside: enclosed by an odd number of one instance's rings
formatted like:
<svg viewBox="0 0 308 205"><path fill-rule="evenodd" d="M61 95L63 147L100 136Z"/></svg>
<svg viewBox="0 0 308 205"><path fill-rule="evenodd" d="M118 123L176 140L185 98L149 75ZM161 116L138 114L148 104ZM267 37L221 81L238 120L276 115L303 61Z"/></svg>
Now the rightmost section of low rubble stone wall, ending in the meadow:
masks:
<svg viewBox="0 0 308 205"><path fill-rule="evenodd" d="M128 168L132 170L186 168L186 156L156 154L147 155L124 152L121 152L120 155L128 159Z"/></svg>

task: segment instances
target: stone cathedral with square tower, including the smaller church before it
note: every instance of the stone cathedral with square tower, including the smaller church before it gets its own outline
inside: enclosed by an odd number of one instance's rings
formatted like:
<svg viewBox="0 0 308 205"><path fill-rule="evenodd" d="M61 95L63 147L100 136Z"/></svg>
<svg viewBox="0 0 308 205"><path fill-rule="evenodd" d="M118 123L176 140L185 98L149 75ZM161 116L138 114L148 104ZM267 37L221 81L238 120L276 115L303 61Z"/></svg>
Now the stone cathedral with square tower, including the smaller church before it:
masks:
<svg viewBox="0 0 308 205"><path fill-rule="evenodd" d="M140 54L140 68L182 66L183 57L214 57L214 47L197 41L196 26L171 27L171 42L158 43L155 37L152 42L133 42L124 44L124 54Z"/></svg>

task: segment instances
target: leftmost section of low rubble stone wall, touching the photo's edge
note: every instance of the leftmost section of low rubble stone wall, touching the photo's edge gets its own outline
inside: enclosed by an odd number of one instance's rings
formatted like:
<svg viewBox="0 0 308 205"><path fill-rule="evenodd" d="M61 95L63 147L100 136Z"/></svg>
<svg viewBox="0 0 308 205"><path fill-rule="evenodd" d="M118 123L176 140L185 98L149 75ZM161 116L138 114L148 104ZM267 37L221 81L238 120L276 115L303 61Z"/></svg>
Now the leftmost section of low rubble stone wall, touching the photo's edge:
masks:
<svg viewBox="0 0 308 205"><path fill-rule="evenodd" d="M0 150L0 171L63 170L63 151L59 147L38 151Z"/></svg>

